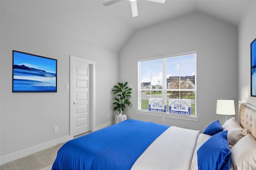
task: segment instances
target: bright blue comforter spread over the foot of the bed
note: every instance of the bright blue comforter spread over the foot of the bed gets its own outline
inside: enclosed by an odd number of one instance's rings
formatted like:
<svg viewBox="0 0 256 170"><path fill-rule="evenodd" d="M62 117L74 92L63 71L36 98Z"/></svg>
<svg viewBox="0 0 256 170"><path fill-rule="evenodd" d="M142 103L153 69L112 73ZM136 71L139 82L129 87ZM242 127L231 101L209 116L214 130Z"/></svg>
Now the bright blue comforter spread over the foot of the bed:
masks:
<svg viewBox="0 0 256 170"><path fill-rule="evenodd" d="M169 126L127 119L65 143L52 170L130 170Z"/></svg>

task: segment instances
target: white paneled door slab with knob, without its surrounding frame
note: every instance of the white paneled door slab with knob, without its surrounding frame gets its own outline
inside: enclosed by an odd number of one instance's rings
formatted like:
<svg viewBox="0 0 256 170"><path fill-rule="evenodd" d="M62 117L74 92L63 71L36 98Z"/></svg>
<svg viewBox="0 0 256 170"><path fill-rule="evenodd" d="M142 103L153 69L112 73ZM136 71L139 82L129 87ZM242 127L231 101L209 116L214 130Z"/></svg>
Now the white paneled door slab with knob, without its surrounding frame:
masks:
<svg viewBox="0 0 256 170"><path fill-rule="evenodd" d="M90 64L74 61L74 136L90 131Z"/></svg>

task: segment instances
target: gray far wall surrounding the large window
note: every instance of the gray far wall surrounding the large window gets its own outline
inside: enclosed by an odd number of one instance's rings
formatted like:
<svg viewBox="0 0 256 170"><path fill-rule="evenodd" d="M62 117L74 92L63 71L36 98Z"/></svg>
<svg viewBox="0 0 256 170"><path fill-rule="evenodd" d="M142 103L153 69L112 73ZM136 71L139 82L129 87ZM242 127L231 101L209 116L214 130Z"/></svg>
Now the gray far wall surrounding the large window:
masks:
<svg viewBox="0 0 256 170"><path fill-rule="evenodd" d="M120 81L133 89L126 113L129 118L203 131L223 115L216 115L216 100L238 101L237 29L209 16L193 13L134 34L120 53ZM139 115L137 60L197 51L197 116L199 121ZM236 109L236 113L238 110Z"/></svg>

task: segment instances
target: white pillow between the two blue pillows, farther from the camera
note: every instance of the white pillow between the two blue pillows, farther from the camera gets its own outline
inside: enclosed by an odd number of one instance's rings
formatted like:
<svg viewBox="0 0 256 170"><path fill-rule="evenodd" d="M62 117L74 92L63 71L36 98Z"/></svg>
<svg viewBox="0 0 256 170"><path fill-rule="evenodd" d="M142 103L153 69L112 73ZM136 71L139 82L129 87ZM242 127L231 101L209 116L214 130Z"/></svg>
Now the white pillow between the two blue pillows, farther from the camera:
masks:
<svg viewBox="0 0 256 170"><path fill-rule="evenodd" d="M228 147L232 147L245 135L247 135L247 129L243 129L236 121L235 117L228 119L222 125L223 131L228 131Z"/></svg>

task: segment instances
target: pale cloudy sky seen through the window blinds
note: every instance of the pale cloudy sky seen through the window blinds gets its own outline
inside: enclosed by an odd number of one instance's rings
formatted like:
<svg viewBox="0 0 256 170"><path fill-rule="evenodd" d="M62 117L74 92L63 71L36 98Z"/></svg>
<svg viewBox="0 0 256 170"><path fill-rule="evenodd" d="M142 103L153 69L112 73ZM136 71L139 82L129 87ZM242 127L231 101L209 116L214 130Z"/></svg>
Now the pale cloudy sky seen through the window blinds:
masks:
<svg viewBox="0 0 256 170"><path fill-rule="evenodd" d="M196 73L196 55L172 57L166 59L166 71L163 69L163 59L144 61L140 63L141 82L151 82L152 86L161 85L163 75L169 76L193 76ZM193 64L191 64L193 63Z"/></svg>

